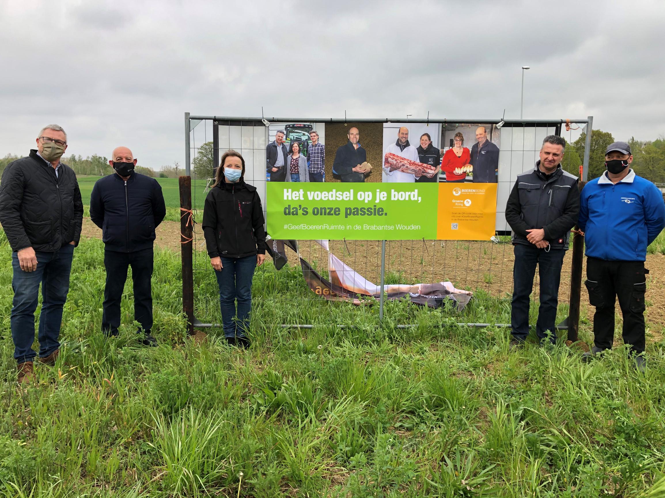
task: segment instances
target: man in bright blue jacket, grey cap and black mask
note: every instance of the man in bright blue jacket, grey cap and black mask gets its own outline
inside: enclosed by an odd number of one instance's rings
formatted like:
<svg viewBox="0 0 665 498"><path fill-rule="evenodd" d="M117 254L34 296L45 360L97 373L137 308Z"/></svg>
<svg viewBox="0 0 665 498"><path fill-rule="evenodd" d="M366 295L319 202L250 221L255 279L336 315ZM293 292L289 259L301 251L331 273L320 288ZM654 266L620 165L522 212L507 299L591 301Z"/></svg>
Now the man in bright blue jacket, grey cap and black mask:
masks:
<svg viewBox="0 0 665 498"><path fill-rule="evenodd" d="M605 171L582 191L579 227L585 232L587 290L596 307L595 345L585 360L614 341L614 302L623 315L623 339L630 345L636 367L644 371L644 292L646 246L665 227L665 204L656 185L628 167L630 145L614 142L605 151Z"/></svg>

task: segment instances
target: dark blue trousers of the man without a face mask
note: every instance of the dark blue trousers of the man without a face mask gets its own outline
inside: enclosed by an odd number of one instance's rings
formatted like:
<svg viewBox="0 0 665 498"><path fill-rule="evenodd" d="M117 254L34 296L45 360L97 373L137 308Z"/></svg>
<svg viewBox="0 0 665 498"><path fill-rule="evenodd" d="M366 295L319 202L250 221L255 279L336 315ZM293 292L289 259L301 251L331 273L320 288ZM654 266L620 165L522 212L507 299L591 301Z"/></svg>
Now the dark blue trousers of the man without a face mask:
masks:
<svg viewBox="0 0 665 498"><path fill-rule="evenodd" d="M559 304L559 282L563 265L563 249L539 249L533 244L515 244L515 265L513 266L513 301L511 303L510 323L513 337L523 341L529 335L529 296L533 291L533 277L538 264L540 277L540 307L536 321L536 335L539 339L547 337L551 331L551 340L557 339L555 321Z"/></svg>

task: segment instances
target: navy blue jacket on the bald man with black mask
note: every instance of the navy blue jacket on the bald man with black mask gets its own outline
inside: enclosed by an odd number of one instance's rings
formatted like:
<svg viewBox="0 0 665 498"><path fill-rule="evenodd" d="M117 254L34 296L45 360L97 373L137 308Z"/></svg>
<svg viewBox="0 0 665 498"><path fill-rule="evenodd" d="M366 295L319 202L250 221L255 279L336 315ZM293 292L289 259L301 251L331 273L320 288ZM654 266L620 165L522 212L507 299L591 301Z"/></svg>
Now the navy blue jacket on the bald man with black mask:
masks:
<svg viewBox="0 0 665 498"><path fill-rule="evenodd" d="M106 250L134 252L152 247L155 228L166 216L162 187L133 173L127 181L113 173L100 178L90 195L90 219L102 229Z"/></svg>

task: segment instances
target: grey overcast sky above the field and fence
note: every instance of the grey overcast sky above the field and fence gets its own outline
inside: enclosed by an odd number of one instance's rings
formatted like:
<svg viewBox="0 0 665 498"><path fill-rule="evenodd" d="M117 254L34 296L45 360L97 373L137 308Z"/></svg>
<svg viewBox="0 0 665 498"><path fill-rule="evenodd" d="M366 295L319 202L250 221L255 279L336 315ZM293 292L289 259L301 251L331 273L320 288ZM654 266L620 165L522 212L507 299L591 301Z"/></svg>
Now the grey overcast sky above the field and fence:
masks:
<svg viewBox="0 0 665 498"><path fill-rule="evenodd" d="M665 133L663 1L0 0L0 156L184 160L184 112L585 118Z"/></svg>

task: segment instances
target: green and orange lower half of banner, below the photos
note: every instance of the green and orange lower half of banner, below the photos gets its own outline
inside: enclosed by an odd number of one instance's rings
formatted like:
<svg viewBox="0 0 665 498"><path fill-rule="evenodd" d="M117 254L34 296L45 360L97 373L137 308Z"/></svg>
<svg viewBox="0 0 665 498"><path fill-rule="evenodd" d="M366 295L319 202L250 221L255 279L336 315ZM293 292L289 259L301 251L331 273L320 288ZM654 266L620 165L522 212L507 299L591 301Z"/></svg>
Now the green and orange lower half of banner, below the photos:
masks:
<svg viewBox="0 0 665 498"><path fill-rule="evenodd" d="M267 183L279 240L489 240L496 184Z"/></svg>

